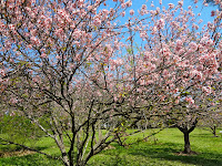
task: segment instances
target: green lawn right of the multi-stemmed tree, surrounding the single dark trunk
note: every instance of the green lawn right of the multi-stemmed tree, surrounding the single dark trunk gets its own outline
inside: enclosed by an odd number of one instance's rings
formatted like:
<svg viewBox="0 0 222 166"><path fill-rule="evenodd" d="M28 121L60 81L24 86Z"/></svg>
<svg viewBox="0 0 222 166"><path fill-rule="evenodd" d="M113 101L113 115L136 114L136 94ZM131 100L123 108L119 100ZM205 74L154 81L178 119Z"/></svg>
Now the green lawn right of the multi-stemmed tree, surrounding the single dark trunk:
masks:
<svg viewBox="0 0 222 166"><path fill-rule="evenodd" d="M148 142L134 144L128 148L114 146L115 149L94 156L89 164L98 166L222 165L222 137L213 137L211 133L200 128L191 133L191 147L198 155L178 155L178 152L183 151L183 135L176 128L164 129L154 137L150 137Z"/></svg>

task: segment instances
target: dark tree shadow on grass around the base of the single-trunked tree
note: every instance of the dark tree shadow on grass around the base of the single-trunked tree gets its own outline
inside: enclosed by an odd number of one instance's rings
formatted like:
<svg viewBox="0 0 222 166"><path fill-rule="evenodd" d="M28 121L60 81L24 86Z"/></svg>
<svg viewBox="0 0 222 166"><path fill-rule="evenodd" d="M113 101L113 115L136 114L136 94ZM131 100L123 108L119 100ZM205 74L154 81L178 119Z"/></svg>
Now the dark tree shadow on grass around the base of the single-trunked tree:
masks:
<svg viewBox="0 0 222 166"><path fill-rule="evenodd" d="M161 146L161 147L160 147ZM176 153L179 147L182 147L181 144L172 144L165 143L162 145L148 145L145 147L137 147L129 153L133 156L144 156L150 158L160 158L165 160L179 160L184 164L193 164L200 166L222 166L222 154L213 154L213 153L198 153L198 155L178 155ZM182 148L181 148L182 149Z"/></svg>

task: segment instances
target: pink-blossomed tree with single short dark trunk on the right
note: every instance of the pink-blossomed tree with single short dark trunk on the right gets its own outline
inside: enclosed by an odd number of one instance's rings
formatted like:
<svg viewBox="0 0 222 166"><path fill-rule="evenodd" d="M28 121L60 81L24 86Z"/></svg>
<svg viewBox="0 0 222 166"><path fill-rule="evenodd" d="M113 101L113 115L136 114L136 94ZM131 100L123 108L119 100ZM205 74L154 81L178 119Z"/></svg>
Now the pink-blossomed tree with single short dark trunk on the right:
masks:
<svg viewBox="0 0 222 166"><path fill-rule="evenodd" d="M189 134L209 115L211 105L221 105L221 12L200 27L201 13L195 14L191 6L183 9L183 1L162 9L151 7L153 10L142 6L140 14L148 19L140 25L129 25L143 40L134 53L129 44L132 65L128 77L137 84L134 101L140 101L131 106L140 107L148 117L152 110L153 116L174 123L184 135L184 153L189 154Z"/></svg>

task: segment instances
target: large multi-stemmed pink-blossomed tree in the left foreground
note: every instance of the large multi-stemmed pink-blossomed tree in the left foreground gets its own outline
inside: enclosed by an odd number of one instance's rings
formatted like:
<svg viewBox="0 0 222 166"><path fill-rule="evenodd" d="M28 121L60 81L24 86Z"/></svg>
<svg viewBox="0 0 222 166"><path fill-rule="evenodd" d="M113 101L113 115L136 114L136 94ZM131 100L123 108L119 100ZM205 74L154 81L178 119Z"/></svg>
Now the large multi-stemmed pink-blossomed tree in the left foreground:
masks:
<svg viewBox="0 0 222 166"><path fill-rule="evenodd" d="M132 2L113 0L0 3L0 96L7 107L52 138L64 165L85 165L120 139L128 118L117 100L124 23L115 21ZM123 111L124 110L124 111ZM108 123L105 133L98 126Z"/></svg>

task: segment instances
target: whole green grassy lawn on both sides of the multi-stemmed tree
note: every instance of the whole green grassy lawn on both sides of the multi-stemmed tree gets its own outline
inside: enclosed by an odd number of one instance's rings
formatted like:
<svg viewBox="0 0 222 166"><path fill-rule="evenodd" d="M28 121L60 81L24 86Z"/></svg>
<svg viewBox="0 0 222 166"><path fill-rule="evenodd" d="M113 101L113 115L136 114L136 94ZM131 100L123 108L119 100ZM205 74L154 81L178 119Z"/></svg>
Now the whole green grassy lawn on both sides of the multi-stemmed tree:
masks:
<svg viewBox="0 0 222 166"><path fill-rule="evenodd" d="M148 135L150 131L131 139ZM112 144L112 148L92 157L89 166L222 166L222 137L213 137L208 131L195 128L191 133L191 148L198 155L178 155L183 149L183 135L176 128L168 128L147 142L127 148ZM130 142L130 141L129 141ZM47 138L37 145L43 152L57 154L58 149ZM0 146L0 151L1 151ZM60 166L61 163L39 154L0 158L0 166Z"/></svg>

